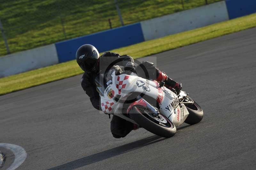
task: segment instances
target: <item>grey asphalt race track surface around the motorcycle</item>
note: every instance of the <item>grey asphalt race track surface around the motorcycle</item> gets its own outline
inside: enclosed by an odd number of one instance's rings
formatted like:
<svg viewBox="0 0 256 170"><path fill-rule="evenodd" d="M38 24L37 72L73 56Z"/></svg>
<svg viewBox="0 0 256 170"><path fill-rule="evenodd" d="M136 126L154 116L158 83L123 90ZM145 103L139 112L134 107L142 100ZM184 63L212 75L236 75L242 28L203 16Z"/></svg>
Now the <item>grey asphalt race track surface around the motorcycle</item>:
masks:
<svg viewBox="0 0 256 170"><path fill-rule="evenodd" d="M255 53L252 28L155 55L204 110L171 138L145 129L113 138L79 75L0 96L0 143L26 150L23 170L256 169ZM0 150L6 169L14 155Z"/></svg>

